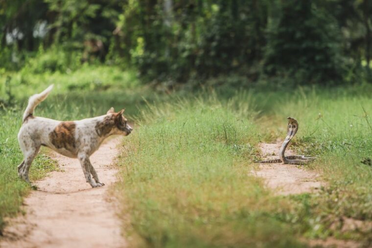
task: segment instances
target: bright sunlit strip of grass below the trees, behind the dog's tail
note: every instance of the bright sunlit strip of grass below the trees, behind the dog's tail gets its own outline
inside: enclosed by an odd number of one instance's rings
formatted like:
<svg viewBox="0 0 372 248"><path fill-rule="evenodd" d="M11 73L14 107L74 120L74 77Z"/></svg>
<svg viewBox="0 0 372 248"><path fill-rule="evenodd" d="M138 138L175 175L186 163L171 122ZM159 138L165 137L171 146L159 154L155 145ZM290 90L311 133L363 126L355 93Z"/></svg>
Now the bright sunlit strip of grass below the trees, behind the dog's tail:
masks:
<svg viewBox="0 0 372 248"><path fill-rule="evenodd" d="M51 84L54 84L54 91L59 93L89 94L111 90L130 94L140 88L135 72L108 66L85 65L79 70L65 73L60 71L32 73L27 68L23 68L19 72L5 71L3 75L0 77L0 98L6 98L5 92L10 87L11 94L18 101L34 92L41 92ZM6 84L7 80L9 80L9 87Z"/></svg>

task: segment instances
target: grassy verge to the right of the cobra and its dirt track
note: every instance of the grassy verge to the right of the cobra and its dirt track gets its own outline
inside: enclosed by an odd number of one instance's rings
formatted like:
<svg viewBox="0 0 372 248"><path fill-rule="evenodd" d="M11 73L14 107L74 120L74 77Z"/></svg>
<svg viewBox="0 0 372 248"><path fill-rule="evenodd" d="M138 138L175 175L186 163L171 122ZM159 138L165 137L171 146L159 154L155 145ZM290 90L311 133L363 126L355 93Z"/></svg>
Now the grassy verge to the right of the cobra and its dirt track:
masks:
<svg viewBox="0 0 372 248"><path fill-rule="evenodd" d="M273 119L298 118L295 145L299 153L319 157L310 168L327 182L318 195L311 196L309 216L317 216L317 229L307 231L310 237L334 236L372 244L372 164L368 163L372 158L372 98L368 92L370 86L300 89L295 97L285 98L289 101L273 105ZM350 222L359 227L351 227Z"/></svg>

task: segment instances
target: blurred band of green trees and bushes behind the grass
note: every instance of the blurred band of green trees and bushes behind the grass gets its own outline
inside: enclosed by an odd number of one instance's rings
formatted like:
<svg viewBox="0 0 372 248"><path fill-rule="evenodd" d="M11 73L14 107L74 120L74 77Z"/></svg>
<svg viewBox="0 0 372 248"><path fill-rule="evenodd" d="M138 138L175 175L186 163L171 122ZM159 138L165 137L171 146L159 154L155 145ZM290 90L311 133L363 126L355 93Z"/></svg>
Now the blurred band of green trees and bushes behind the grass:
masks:
<svg viewBox="0 0 372 248"><path fill-rule="evenodd" d="M371 83L371 29L371 0L1 0L0 72L88 63L166 88L220 76L239 87Z"/></svg>

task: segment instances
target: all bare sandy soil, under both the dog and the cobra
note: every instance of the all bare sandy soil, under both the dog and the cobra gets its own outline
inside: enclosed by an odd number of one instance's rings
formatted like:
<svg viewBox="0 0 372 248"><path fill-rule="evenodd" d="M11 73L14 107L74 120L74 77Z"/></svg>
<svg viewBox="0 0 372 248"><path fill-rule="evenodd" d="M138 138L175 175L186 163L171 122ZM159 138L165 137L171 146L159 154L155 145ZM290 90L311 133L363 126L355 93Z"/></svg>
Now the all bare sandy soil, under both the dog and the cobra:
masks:
<svg viewBox="0 0 372 248"><path fill-rule="evenodd" d="M91 188L77 159L53 154L61 171L52 172L45 180L36 182L38 190L32 191L24 200L25 215L9 220L0 247L126 247L115 215L116 201L107 194L110 184L117 180L117 169L112 163L118 155L116 146L120 140L120 137L108 140L91 156L100 180L106 184L104 187ZM267 159L278 158L280 145L280 142L263 143L260 148ZM291 154L288 149L286 155ZM267 186L279 195L312 192L322 185L318 174L298 165L276 163L257 166L258 169L251 173L264 178ZM357 243L333 238L307 242L311 247L358 247Z"/></svg>

